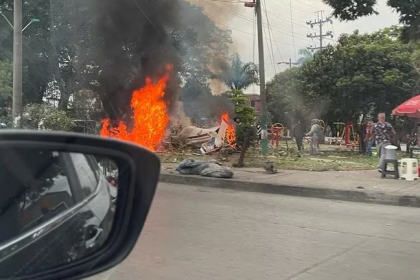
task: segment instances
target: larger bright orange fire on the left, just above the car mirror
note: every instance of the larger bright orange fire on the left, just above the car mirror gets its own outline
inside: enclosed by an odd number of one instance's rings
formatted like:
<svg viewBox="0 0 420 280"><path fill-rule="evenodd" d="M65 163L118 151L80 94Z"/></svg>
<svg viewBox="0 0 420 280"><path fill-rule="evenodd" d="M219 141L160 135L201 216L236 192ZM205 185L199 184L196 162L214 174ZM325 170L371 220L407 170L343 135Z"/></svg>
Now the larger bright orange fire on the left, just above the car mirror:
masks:
<svg viewBox="0 0 420 280"><path fill-rule="evenodd" d="M168 65L166 70L171 70ZM157 82L150 77L146 78L146 85L133 92L131 108L133 109L133 129L127 130L127 125L120 122L118 127L109 128L110 120L102 120L101 136L129 141L155 151L165 134L169 117L166 113L166 104L162 100L165 95L166 83L169 74L166 73Z"/></svg>

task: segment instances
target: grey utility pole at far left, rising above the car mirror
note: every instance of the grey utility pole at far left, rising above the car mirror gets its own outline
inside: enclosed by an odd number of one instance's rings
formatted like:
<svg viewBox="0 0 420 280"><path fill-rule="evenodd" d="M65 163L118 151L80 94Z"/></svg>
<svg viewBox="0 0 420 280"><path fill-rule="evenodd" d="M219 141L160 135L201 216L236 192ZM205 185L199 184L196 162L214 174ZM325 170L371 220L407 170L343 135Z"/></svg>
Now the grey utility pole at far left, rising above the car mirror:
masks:
<svg viewBox="0 0 420 280"><path fill-rule="evenodd" d="M13 128L20 128L22 117L22 0L14 0L13 15Z"/></svg>

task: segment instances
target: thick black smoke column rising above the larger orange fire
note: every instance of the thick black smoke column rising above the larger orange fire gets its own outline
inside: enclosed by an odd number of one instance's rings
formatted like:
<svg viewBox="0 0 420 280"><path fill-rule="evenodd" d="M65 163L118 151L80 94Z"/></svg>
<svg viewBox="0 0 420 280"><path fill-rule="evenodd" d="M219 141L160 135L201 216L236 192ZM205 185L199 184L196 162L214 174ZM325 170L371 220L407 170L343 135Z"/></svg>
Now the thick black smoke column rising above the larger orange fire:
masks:
<svg viewBox="0 0 420 280"><path fill-rule="evenodd" d="M107 117L129 121L133 90L146 77L159 79L166 65L173 70L165 91L169 110L178 100L182 65L176 47L181 12L179 0L94 0L90 19L91 45L85 65L92 65L90 87L100 94ZM86 61L89 60L89 61ZM170 113L170 112L169 112Z"/></svg>

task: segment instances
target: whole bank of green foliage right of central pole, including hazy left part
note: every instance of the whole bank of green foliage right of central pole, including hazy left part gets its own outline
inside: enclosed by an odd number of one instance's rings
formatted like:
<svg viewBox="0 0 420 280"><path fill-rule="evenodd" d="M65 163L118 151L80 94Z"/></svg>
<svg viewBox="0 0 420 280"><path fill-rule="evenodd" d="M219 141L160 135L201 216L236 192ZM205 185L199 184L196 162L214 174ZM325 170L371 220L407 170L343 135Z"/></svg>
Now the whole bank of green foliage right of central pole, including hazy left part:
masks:
<svg viewBox="0 0 420 280"><path fill-rule="evenodd" d="M406 44L396 27L372 34L342 35L301 67L277 74L267 83L273 122L296 118L348 121L390 111L418 94L420 52Z"/></svg>

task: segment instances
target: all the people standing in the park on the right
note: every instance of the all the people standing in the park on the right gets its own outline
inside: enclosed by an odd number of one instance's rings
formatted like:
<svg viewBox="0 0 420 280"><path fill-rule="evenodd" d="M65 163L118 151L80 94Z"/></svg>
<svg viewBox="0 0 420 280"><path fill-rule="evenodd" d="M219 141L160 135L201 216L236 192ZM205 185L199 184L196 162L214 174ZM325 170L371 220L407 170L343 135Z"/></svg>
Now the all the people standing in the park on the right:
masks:
<svg viewBox="0 0 420 280"><path fill-rule="evenodd" d="M299 120L293 128L293 136L296 139L299 151L303 148L303 138L311 137L310 152L311 154L319 153L319 140L322 137L322 128L318 124L318 120L311 121L311 130L306 133L305 126ZM378 171L382 172L386 147L395 141L396 133L392 125L385 121L385 114L378 114L378 122L368 121L365 132L366 153L372 156L372 147L376 145L378 150Z"/></svg>

